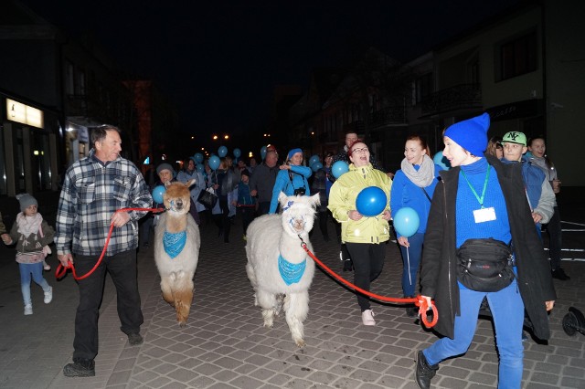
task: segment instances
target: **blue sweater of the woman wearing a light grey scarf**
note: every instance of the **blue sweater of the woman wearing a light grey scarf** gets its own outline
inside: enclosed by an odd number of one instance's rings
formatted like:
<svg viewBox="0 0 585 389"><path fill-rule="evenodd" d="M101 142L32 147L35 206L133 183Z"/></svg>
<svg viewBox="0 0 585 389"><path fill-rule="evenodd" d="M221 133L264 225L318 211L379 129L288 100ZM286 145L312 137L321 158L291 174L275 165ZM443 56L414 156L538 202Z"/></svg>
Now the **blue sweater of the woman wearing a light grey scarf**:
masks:
<svg viewBox="0 0 585 389"><path fill-rule="evenodd" d="M418 171L420 165L414 165L414 168ZM435 164L435 177L439 176L439 172L442 170L441 166ZM431 197L435 192L435 186L437 186L438 180L432 180L432 183L425 187L424 190L427 195ZM400 208L409 206L414 209L419 215L420 225L417 233L424 234L427 231L427 220L429 219L429 211L431 209L431 201L422 192L422 189L413 184L412 181L403 173L401 170L396 172L394 180L392 181L392 191L390 192L390 211L392 217L396 216ZM396 231L396 237L400 237L398 231Z"/></svg>

